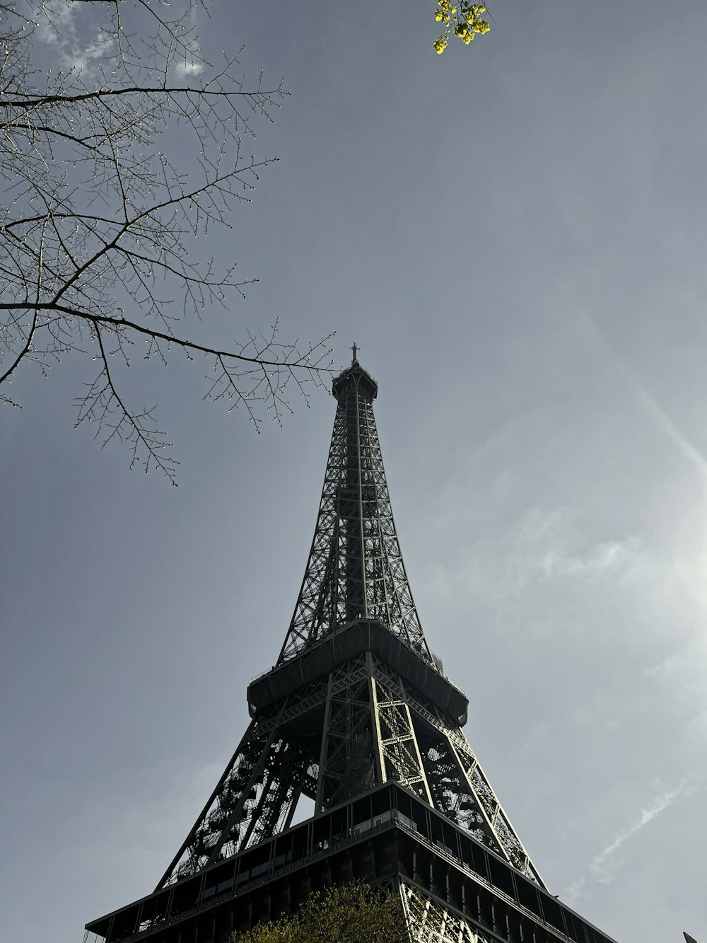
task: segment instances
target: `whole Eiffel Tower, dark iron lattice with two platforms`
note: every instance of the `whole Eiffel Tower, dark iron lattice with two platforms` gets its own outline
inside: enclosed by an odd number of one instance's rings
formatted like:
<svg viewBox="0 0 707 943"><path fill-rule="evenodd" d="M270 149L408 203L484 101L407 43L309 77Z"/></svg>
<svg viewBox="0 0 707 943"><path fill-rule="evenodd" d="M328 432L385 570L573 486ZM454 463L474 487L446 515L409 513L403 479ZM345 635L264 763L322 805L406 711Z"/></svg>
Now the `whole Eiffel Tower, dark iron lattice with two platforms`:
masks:
<svg viewBox="0 0 707 943"><path fill-rule="evenodd" d="M317 526L251 723L155 891L84 943L222 943L363 879L411 943L612 943L553 897L462 733L468 701L422 633L359 364L337 399ZM308 803L313 815L297 821ZM294 824L293 824L294 822Z"/></svg>

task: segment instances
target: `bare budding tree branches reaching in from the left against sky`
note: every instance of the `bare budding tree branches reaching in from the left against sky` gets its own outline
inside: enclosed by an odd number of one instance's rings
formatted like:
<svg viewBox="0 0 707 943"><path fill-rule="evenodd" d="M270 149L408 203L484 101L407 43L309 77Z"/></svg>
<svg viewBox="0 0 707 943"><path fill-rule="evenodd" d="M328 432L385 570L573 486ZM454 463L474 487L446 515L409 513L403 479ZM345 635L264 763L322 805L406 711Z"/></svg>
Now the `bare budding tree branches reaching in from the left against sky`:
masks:
<svg viewBox="0 0 707 943"><path fill-rule="evenodd" d="M277 421L289 410L290 384L306 401L331 368L328 338L282 342L277 318L230 349L191 339L255 281L194 240L229 228L249 201L273 158L248 155L243 140L286 95L262 75L246 87L238 57L208 62L197 10L199 0L176 12L158 0L0 2L0 401L12 403L4 389L25 364L46 373L90 356L98 373L76 424L97 422L103 444L129 444L131 466L171 480L154 408L129 403L123 368L137 339L147 359L204 357L205 398L245 407L256 427L261 410ZM36 68L48 50L57 62Z"/></svg>

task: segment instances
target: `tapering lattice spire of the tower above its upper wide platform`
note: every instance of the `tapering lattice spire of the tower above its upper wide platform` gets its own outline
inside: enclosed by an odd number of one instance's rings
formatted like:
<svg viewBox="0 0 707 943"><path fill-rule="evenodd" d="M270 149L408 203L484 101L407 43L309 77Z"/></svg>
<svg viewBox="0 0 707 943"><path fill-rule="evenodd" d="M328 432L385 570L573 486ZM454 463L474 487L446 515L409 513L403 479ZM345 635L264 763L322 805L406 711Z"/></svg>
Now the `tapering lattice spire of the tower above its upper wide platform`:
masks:
<svg viewBox="0 0 707 943"><path fill-rule="evenodd" d="M357 363L335 380L337 416L317 527L278 663L359 618L381 621L434 663L393 521L373 417L376 390Z"/></svg>

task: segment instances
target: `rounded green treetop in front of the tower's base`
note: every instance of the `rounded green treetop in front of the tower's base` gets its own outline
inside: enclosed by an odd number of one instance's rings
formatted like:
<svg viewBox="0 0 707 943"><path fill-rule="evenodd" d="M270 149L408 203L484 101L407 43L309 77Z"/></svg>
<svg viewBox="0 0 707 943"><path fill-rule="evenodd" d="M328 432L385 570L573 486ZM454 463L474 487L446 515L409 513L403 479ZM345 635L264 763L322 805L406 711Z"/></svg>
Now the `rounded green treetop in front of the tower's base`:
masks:
<svg viewBox="0 0 707 943"><path fill-rule="evenodd" d="M356 882L309 895L289 919L260 923L233 943L407 943L403 908L393 894Z"/></svg>

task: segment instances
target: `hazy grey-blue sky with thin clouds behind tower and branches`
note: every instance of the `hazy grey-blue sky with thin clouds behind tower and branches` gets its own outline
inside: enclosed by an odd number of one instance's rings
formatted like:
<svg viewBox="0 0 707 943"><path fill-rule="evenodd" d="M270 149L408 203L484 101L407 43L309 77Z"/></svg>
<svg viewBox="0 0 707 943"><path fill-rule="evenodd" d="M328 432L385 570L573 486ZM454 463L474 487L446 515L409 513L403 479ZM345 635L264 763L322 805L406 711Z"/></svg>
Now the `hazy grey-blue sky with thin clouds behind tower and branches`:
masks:
<svg viewBox="0 0 707 943"><path fill-rule="evenodd" d="M205 54L291 91L216 245L260 283L212 326L360 345L426 636L535 865L620 943L707 943L707 6L492 13L437 57L430 0L211 4ZM285 637L336 405L256 436L156 367L171 488L52 374L0 411L12 943L79 943L180 846Z"/></svg>

